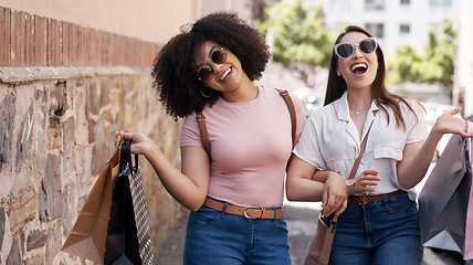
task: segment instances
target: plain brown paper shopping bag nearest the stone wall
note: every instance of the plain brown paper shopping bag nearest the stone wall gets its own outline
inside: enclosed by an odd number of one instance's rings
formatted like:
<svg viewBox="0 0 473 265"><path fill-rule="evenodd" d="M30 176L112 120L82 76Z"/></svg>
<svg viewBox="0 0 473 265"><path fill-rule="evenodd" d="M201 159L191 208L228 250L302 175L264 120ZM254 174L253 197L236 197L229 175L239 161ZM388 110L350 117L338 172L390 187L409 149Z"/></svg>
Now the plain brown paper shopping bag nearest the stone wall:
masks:
<svg viewBox="0 0 473 265"><path fill-rule="evenodd" d="M112 159L103 167L70 235L62 246L63 252L95 263L104 261L113 178L117 176L119 170L119 150L120 148L118 147Z"/></svg>

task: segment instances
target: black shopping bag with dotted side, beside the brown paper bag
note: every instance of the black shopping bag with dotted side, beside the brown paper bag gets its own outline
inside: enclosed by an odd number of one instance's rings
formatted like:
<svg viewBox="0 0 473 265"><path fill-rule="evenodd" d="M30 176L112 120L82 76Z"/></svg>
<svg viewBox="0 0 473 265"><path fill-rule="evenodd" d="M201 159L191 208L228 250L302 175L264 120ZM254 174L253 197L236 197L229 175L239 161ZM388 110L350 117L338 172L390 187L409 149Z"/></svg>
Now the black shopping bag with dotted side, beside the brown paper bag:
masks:
<svg viewBox="0 0 473 265"><path fill-rule="evenodd" d="M105 265L150 265L154 258L138 156L135 156L133 166L130 142L124 140L122 145L119 173L112 197Z"/></svg>

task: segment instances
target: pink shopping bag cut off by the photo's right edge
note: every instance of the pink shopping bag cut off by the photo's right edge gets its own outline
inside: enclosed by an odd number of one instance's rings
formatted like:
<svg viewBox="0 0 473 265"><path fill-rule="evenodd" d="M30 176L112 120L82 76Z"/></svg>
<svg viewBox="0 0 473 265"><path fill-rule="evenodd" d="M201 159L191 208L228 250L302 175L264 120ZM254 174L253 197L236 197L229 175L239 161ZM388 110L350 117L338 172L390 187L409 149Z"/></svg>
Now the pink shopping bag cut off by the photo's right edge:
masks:
<svg viewBox="0 0 473 265"><path fill-rule="evenodd" d="M473 123L467 123L467 131L473 131ZM473 141L471 138L466 139L466 147L469 150L470 169L473 169ZM473 181L473 170L472 181ZM466 229L465 229L465 244L463 250L463 258L473 259L473 184L470 187L469 208L466 209Z"/></svg>

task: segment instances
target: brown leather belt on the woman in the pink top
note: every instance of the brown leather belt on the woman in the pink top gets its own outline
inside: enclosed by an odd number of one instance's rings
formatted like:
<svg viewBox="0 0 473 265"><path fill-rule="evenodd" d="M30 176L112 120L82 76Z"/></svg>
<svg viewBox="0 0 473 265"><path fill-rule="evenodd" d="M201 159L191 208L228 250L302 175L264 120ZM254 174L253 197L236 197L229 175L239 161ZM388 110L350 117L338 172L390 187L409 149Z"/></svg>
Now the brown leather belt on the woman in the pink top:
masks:
<svg viewBox="0 0 473 265"><path fill-rule="evenodd" d="M216 201L212 198L207 198L203 205L217 210L223 211L224 202ZM236 206L227 204L225 213L244 216L246 219L274 219L274 209L272 208L253 208L253 206ZM284 218L284 208L276 208L276 219Z"/></svg>

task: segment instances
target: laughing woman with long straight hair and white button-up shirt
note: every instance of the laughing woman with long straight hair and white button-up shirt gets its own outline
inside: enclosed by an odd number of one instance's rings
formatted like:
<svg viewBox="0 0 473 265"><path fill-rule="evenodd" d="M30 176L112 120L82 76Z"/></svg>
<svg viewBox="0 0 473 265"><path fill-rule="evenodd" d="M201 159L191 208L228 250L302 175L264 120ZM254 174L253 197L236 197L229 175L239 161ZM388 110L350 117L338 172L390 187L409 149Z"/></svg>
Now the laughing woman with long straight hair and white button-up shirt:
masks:
<svg viewBox="0 0 473 265"><path fill-rule="evenodd" d="M323 200L323 212L330 209L338 218L330 264L421 264L413 188L444 134L472 136L466 121L454 117L460 107L439 117L429 132L422 106L390 93L385 78L377 40L347 26L334 45L325 106L307 119L294 149L287 198ZM365 137L361 162L348 179Z"/></svg>

